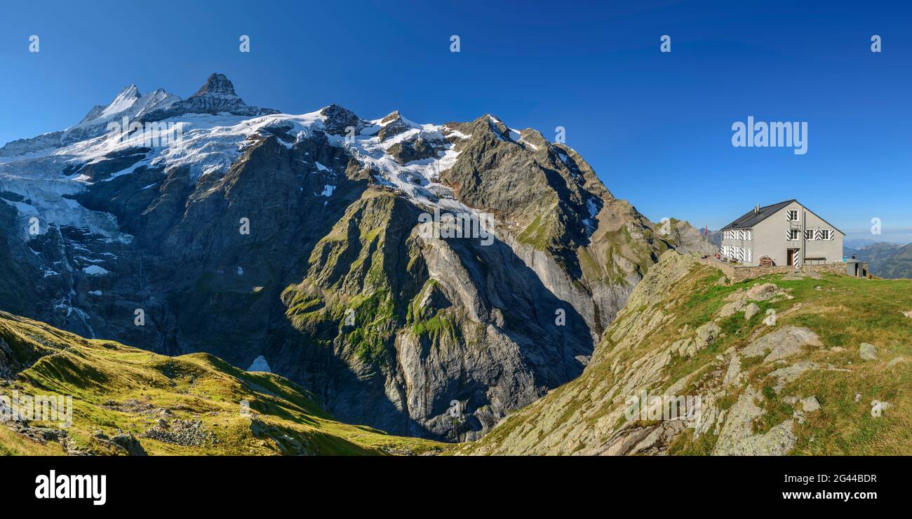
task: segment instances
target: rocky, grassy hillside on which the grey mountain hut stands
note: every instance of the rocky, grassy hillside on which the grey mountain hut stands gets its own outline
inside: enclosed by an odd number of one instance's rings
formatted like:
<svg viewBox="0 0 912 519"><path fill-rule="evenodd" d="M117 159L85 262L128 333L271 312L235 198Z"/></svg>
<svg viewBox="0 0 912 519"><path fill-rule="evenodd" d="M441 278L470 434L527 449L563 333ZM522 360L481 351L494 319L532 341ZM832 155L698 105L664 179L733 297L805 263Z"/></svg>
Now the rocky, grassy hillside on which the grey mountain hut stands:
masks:
<svg viewBox="0 0 912 519"><path fill-rule="evenodd" d="M699 396L699 412L628 413L643 390ZM910 410L912 281L805 273L730 285L672 251L580 378L457 452L908 455Z"/></svg>

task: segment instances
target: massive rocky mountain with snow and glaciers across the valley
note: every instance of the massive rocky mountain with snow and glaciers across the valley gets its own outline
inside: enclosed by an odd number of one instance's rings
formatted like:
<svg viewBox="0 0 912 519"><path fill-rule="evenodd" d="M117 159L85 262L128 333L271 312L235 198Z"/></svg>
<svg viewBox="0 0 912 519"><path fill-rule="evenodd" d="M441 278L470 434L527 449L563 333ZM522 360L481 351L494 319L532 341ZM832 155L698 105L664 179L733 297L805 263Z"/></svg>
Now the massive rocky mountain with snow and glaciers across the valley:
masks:
<svg viewBox="0 0 912 519"><path fill-rule="evenodd" d="M683 244L575 151L492 116L281 114L221 75L156 92L87 119L179 140L5 148L0 308L167 355L262 356L340 420L472 439L577 377Z"/></svg>

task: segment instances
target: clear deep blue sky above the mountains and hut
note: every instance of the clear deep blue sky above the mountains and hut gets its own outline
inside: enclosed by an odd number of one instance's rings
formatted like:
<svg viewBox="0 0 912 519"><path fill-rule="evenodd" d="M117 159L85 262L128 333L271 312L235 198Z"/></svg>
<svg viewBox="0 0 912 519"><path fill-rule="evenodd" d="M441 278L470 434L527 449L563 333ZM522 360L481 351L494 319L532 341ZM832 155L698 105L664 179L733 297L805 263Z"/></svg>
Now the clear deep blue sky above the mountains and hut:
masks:
<svg viewBox="0 0 912 519"><path fill-rule="evenodd" d="M366 119L490 112L550 139L563 126L608 189L654 221L719 228L797 198L844 231L873 217L912 227L912 8L562 4L5 5L0 143L66 128L130 83L186 98L222 72L248 103L289 113L333 102ZM807 153L732 147L731 124L751 115L807 121Z"/></svg>

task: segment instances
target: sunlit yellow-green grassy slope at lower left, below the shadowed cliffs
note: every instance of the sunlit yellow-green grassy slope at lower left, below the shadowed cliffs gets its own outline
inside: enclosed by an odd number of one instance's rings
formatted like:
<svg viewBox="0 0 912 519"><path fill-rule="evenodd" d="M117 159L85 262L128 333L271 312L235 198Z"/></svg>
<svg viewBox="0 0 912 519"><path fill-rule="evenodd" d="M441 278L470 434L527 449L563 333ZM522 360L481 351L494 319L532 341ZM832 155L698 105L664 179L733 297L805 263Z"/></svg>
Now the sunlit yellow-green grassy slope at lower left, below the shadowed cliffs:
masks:
<svg viewBox="0 0 912 519"><path fill-rule="evenodd" d="M67 441L79 451L122 453L98 441L101 431L132 433L150 454L382 454L440 450L433 441L390 436L333 420L311 395L270 373L248 373L220 358L170 358L105 340L88 340L43 323L0 313L0 337L14 357L31 364L0 394L72 395L74 424ZM255 423L240 413L249 400ZM144 438L168 420L202 420L215 441L196 446ZM32 426L57 427L32 422ZM255 432L254 432L255 431ZM61 454L57 441L39 443L0 425L0 454Z"/></svg>

